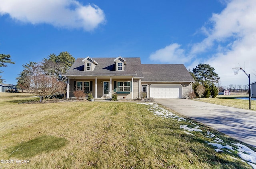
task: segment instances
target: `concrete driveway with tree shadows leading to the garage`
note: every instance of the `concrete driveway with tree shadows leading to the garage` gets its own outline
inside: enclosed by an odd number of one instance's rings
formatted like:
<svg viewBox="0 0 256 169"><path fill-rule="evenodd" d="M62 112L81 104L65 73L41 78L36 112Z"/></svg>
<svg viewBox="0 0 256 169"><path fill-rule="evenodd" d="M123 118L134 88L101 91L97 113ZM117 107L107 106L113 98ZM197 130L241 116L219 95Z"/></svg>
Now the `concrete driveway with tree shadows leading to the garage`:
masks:
<svg viewBox="0 0 256 169"><path fill-rule="evenodd" d="M256 111L190 99L155 99L156 103L256 147Z"/></svg>

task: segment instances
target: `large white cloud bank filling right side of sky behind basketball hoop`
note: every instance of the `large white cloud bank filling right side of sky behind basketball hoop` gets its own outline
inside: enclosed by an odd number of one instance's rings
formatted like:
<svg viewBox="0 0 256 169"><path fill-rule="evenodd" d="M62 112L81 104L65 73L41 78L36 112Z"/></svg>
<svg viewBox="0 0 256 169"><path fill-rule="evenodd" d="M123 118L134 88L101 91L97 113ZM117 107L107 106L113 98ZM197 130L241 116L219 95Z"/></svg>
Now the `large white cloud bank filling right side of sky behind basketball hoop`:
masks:
<svg viewBox="0 0 256 169"><path fill-rule="evenodd" d="M182 51L183 64L192 70L199 63L210 64L220 76L222 85L248 84L248 77L242 70L234 75L232 68L242 66L251 74L251 82L256 81L256 1L231 0L220 14L212 14L209 22L201 28L206 38L201 42L190 44L188 51ZM180 50L180 45L175 50ZM156 51L168 53L168 48ZM175 55L175 52L169 52ZM205 56L202 57L207 53ZM210 54L210 56L209 56ZM154 55L153 55L154 56ZM176 60L178 55L174 57ZM152 55L150 56L152 59ZM168 58L166 56L166 58ZM186 59L187 58L187 59ZM166 63L176 63L166 60ZM186 60L192 61L186 64Z"/></svg>

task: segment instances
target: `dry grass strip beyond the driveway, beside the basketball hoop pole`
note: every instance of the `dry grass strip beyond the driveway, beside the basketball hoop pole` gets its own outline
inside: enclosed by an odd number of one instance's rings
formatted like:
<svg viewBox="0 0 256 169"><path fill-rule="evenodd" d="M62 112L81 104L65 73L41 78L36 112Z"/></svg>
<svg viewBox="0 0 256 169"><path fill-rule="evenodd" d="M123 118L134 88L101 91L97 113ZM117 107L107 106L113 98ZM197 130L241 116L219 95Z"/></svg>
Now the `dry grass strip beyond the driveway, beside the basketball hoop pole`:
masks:
<svg viewBox="0 0 256 169"><path fill-rule="evenodd" d="M240 109L249 109L249 100L236 99L237 97L248 97L248 95L219 95L216 98L201 98L195 99L206 103L213 103L218 105L225 105L229 107L236 107ZM251 110L256 111L256 101L251 100Z"/></svg>

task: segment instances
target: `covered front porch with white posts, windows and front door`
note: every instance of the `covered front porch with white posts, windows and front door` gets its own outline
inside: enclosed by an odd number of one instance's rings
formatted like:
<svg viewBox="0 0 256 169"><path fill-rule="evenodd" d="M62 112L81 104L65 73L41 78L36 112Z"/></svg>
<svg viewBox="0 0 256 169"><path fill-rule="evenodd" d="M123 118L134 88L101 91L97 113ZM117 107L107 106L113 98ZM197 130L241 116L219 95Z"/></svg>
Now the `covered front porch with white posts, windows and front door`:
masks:
<svg viewBox="0 0 256 169"><path fill-rule="evenodd" d="M111 98L112 94L117 94L118 99L134 99L139 97L138 85L139 80L132 76L68 77L67 98L74 97L75 90L83 90L92 93L95 99Z"/></svg>

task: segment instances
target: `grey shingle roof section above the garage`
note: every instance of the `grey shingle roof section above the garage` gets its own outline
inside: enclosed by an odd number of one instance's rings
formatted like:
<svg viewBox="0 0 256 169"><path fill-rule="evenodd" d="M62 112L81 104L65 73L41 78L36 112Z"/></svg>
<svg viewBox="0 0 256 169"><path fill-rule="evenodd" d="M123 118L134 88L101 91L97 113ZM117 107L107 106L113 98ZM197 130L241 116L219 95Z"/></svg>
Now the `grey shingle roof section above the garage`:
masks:
<svg viewBox="0 0 256 169"><path fill-rule="evenodd" d="M195 82L183 64L142 64L143 82Z"/></svg>

